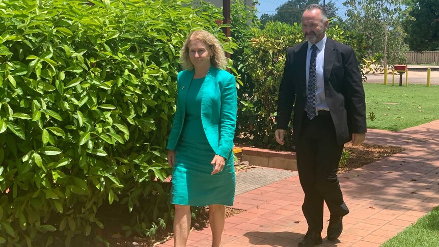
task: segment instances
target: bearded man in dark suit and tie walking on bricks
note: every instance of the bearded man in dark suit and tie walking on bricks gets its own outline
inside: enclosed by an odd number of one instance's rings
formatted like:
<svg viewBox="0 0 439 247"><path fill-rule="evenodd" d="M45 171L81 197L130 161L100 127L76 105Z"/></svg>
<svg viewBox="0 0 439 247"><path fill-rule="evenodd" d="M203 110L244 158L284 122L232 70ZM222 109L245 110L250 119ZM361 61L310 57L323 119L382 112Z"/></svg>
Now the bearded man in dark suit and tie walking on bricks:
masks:
<svg viewBox="0 0 439 247"><path fill-rule="evenodd" d="M294 104L293 141L308 224L298 246L314 246L322 243L323 201L331 212L327 239L336 240L343 230L342 218L349 209L337 169L344 143L351 140L360 145L365 139L366 104L354 51L325 36L325 10L320 5L308 6L301 23L307 42L287 50L276 141L285 143Z"/></svg>

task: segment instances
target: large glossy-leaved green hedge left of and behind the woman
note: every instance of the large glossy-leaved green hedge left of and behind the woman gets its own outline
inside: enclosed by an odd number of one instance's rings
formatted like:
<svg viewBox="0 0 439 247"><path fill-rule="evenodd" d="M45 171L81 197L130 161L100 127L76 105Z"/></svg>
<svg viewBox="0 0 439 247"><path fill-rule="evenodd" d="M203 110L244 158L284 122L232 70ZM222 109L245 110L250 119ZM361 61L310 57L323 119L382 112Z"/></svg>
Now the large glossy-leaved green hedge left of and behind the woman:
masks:
<svg viewBox="0 0 439 247"><path fill-rule="evenodd" d="M101 241L109 216L126 235L169 223L179 49L195 28L226 40L190 3L0 2L0 244Z"/></svg>

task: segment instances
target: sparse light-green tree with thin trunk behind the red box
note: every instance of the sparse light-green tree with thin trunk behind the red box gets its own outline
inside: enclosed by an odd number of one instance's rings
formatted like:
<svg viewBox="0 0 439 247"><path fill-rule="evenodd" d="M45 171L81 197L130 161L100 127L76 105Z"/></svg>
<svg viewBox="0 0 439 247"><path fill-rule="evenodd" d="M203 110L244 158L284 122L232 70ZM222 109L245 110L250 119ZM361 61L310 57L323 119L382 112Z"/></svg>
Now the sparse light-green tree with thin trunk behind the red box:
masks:
<svg viewBox="0 0 439 247"><path fill-rule="evenodd" d="M403 0L347 0L347 27L366 38L366 49L380 54L382 65L404 63L408 46L403 22L409 18Z"/></svg>

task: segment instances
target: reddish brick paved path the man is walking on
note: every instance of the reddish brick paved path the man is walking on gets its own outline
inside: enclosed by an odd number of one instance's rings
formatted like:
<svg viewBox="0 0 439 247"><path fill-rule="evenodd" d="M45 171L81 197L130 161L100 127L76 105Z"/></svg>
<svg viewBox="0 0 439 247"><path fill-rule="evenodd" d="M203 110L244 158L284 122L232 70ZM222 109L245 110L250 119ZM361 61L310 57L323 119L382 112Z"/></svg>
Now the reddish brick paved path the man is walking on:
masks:
<svg viewBox="0 0 439 247"><path fill-rule="evenodd" d="M406 150L340 175L351 212L339 240L318 246L379 246L439 205L439 120L398 132L368 129L366 142ZM303 198L297 176L236 196L233 207L246 211L226 219L223 247L297 246L307 230ZM187 246L209 247L211 239L210 228L194 231Z"/></svg>

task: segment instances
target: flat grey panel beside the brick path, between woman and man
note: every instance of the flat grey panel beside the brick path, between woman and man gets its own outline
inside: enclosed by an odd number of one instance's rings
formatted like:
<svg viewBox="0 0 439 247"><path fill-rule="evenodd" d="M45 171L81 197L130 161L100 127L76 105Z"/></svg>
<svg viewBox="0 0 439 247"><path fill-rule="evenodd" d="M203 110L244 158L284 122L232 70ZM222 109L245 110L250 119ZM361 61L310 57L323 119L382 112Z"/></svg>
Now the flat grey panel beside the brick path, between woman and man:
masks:
<svg viewBox="0 0 439 247"><path fill-rule="evenodd" d="M236 174L235 195L297 175L297 172L258 167Z"/></svg>

